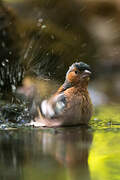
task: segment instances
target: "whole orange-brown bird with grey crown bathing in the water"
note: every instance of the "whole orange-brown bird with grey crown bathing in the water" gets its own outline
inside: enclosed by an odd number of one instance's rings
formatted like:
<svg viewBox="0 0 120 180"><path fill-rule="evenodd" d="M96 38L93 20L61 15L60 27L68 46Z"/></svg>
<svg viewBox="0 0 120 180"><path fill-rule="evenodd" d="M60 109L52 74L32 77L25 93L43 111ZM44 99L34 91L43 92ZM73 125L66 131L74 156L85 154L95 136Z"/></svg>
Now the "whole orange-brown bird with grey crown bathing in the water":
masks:
<svg viewBox="0 0 120 180"><path fill-rule="evenodd" d="M64 83L49 98L34 100L36 117L31 125L61 127L88 125L93 105L88 92L91 68L84 62L75 62L66 73ZM36 100L37 99L37 100Z"/></svg>

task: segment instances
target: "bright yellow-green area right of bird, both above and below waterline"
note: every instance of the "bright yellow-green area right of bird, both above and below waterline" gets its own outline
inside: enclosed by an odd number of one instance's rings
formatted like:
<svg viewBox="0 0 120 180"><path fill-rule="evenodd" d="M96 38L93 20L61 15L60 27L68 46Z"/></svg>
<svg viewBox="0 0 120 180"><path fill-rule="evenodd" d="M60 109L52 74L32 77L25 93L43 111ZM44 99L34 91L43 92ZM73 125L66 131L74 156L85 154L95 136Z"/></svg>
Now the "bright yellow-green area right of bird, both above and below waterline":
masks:
<svg viewBox="0 0 120 180"><path fill-rule="evenodd" d="M93 142L88 164L92 180L120 179L120 106L98 107L91 120Z"/></svg>

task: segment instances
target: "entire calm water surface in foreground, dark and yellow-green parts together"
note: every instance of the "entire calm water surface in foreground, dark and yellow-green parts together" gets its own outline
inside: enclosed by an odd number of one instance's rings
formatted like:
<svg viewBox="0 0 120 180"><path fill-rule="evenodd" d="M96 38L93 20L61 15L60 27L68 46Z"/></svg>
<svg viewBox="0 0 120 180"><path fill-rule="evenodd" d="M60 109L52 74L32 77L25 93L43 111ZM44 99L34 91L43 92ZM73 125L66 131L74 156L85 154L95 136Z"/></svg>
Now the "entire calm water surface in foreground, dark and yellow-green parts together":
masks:
<svg viewBox="0 0 120 180"><path fill-rule="evenodd" d="M120 178L120 131L90 128L0 132L0 179Z"/></svg>

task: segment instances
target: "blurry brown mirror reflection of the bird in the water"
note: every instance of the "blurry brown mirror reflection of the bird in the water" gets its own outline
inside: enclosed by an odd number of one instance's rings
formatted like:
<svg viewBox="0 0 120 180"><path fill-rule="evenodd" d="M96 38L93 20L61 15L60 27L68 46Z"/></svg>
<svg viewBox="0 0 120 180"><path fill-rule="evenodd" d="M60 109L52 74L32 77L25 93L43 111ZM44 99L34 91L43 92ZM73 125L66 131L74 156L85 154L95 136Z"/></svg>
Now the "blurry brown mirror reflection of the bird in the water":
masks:
<svg viewBox="0 0 120 180"><path fill-rule="evenodd" d="M55 135L44 133L42 147L44 154L50 154L67 168L71 179L90 179L88 167L89 148L92 134L85 127L65 128Z"/></svg>

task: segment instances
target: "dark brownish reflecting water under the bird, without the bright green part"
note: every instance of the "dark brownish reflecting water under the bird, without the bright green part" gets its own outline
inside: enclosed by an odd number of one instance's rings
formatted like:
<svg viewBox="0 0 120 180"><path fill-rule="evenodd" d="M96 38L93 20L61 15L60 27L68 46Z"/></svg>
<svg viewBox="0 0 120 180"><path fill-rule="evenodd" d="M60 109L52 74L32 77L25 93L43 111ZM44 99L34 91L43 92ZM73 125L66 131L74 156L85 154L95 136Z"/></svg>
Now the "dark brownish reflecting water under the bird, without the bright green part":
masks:
<svg viewBox="0 0 120 180"><path fill-rule="evenodd" d="M90 179L87 128L1 132L0 179ZM36 178L37 177L37 178ZM49 178L48 178L49 177Z"/></svg>

